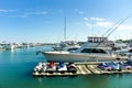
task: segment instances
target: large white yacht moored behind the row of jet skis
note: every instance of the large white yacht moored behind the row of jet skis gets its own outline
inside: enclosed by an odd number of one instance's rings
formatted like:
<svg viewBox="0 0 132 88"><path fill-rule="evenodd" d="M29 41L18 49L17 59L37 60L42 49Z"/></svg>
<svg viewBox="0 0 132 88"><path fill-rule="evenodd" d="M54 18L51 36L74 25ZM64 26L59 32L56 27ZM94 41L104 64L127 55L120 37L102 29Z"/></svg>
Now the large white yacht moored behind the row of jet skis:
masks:
<svg viewBox="0 0 132 88"><path fill-rule="evenodd" d="M94 62L121 59L112 54L107 37L88 37L88 41L75 52L43 52L47 62ZM128 57L123 57L128 58Z"/></svg>

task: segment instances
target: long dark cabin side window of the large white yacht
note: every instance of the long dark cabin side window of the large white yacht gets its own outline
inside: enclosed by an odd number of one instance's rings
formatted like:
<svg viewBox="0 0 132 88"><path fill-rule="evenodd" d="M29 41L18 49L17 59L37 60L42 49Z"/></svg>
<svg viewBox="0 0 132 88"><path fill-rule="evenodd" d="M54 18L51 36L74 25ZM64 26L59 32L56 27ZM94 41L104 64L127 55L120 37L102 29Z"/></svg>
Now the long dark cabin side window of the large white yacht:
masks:
<svg viewBox="0 0 132 88"><path fill-rule="evenodd" d="M107 54L101 48L84 48L81 53L101 53L101 54Z"/></svg>

